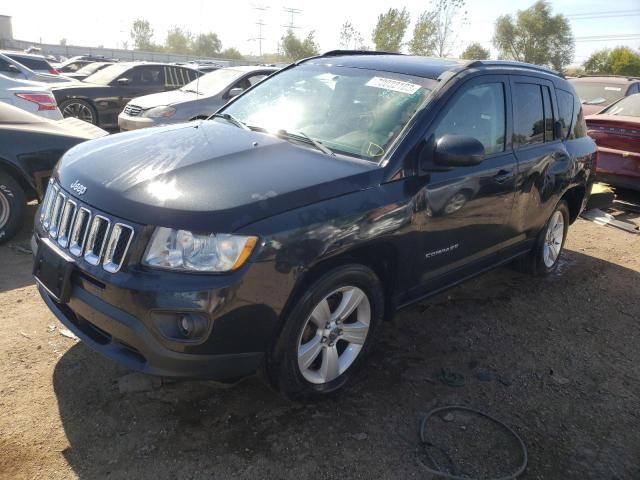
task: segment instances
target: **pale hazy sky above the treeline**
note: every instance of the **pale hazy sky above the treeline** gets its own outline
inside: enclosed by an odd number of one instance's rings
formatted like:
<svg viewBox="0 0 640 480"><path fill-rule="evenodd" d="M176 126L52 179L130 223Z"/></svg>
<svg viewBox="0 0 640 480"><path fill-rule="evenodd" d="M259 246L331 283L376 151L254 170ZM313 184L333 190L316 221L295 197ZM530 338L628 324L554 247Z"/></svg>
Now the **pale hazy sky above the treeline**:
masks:
<svg viewBox="0 0 640 480"><path fill-rule="evenodd" d="M263 1L263 3L256 3ZM149 20L154 29L154 40L162 43L166 32L179 26L194 34L216 32L223 48L236 47L243 54L257 55L259 35L257 22L262 27L262 51L275 52L278 40L292 18L285 8L294 8L294 31L305 36L315 30L321 51L338 48L340 27L350 21L360 31L367 44L372 45L371 31L379 13L391 6L406 6L411 14L405 41L413 28L413 20L429 8L429 0L30 0L18 2L3 0L0 14L13 17L13 34L20 40L58 43L66 38L69 45L121 48L130 41L129 31L136 18ZM515 14L533 0L467 0L468 22L458 32L453 55L478 41L491 48L495 19L503 14ZM4 4L4 5L3 5ZM640 48L640 0L554 0L553 12L569 17L576 37L574 64L584 62L591 52L602 48L628 45ZM259 10L258 8L265 8ZM37 12L37 14L34 14ZM587 17L587 18L585 18ZM585 37L594 37L585 38ZM631 38L625 36L632 36ZM611 38L614 37L614 38ZM493 56L496 52L493 51Z"/></svg>

